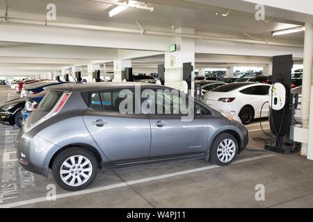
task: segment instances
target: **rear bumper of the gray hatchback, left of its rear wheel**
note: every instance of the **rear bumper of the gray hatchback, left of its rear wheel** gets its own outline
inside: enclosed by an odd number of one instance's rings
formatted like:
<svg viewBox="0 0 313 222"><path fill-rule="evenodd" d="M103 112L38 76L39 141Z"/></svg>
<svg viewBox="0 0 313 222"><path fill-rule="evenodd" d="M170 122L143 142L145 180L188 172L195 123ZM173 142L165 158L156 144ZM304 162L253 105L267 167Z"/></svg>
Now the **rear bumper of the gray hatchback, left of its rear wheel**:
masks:
<svg viewBox="0 0 313 222"><path fill-rule="evenodd" d="M20 130L15 137L15 147L17 148L17 162L24 169L45 177L48 176L51 153L54 153L51 151L55 150L56 145Z"/></svg>

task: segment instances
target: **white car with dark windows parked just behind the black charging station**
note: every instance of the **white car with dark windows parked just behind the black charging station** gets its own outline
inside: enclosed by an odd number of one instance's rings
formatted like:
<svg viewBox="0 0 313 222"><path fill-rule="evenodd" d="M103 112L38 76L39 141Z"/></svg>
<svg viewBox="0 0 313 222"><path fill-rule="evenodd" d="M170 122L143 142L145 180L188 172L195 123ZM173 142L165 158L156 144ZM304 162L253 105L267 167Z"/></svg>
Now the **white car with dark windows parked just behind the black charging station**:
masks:
<svg viewBox="0 0 313 222"><path fill-rule="evenodd" d="M232 113L243 124L248 124L260 115L268 117L268 103L264 103L268 101L270 86L263 83L230 83L204 94L202 102L216 110Z"/></svg>

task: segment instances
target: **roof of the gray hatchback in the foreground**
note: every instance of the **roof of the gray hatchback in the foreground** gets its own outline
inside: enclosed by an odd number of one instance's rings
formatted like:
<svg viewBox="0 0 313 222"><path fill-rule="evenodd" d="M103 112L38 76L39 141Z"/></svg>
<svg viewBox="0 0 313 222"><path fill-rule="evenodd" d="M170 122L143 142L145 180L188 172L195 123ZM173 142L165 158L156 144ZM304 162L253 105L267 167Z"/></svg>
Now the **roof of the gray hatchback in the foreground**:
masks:
<svg viewBox="0 0 313 222"><path fill-rule="evenodd" d="M165 87L163 85L155 85L152 83L138 83L138 82L127 82L127 83L67 83L61 85L54 85L47 87L45 89L49 90L60 90L60 91L72 91L72 92L88 92L95 90L105 90L105 89L123 89L132 88L135 86L149 87L149 88L164 88L171 89L170 87Z"/></svg>

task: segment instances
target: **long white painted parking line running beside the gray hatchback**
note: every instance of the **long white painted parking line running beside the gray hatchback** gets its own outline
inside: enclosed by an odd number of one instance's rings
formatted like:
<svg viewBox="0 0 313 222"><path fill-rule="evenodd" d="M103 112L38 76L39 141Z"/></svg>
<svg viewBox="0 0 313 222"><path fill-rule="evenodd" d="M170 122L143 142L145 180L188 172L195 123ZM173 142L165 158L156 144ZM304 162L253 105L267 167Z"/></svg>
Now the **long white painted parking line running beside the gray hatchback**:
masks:
<svg viewBox="0 0 313 222"><path fill-rule="evenodd" d="M253 160L260 160L260 159L264 159L267 157L273 157L275 156L275 154L268 154L268 155L261 155L261 156L257 156L257 157L249 157L243 160L236 160L234 161L232 164L239 164L242 162L250 162ZM195 173L195 172L199 172L199 171L205 171L205 170L209 170L209 169L216 169L219 168L220 166L218 165L211 165L208 167L200 167L200 168L195 168L195 169L190 169L190 170L186 170L186 171L179 171L176 173L167 173L167 174L163 174L161 176L154 176L154 177L150 177L150 178L143 178L143 179L139 179L139 180L129 180L127 182L120 182L118 184L114 184L114 185L106 185L103 187L96 187L96 188L92 188L92 189L84 189L81 191L74 191L74 192L70 192L70 193L65 193L65 194L58 194L56 195L56 200L60 199L60 198L67 198L67 197L71 197L71 196L78 196L78 195L83 195L83 194L91 194L91 193L95 193L95 192L99 192L99 191L105 191L108 189L115 189L118 187L127 187L129 185L136 185L142 182L150 182L150 181L154 181L154 180L159 180L159 179L164 179L164 178L171 178L174 176L182 176L182 175L186 175L188 173ZM10 207L19 207L22 205L29 205L29 204L33 204L33 203L40 203L40 202L45 202L45 201L49 201L47 200L46 197L41 197L41 198L33 198L30 200L22 200L22 201L18 201L15 203L8 203L8 204L4 204L4 205L0 205L0 208L10 208Z"/></svg>

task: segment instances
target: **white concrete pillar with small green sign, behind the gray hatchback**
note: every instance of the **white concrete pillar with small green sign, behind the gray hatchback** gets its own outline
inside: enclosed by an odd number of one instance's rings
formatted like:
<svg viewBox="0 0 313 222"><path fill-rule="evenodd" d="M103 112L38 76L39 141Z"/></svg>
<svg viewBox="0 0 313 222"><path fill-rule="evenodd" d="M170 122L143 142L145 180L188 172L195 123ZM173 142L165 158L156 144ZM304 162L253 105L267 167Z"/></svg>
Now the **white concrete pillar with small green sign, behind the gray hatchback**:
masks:
<svg viewBox="0 0 313 222"><path fill-rule="evenodd" d="M176 33L195 34L192 28L177 28ZM191 62L195 67L195 40L184 37L175 37L177 51L165 53L165 85L175 89L180 89L183 80L183 64ZM191 87L193 88L194 73L191 76Z"/></svg>

